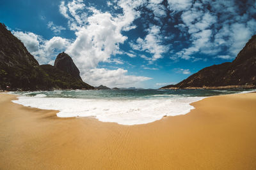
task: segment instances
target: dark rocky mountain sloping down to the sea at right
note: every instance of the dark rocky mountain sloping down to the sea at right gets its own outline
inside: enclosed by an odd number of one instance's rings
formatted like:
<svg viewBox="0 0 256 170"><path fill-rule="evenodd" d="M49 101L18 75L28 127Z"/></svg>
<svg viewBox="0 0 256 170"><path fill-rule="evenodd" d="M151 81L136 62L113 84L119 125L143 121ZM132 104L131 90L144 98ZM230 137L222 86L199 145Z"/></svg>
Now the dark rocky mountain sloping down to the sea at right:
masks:
<svg viewBox="0 0 256 170"><path fill-rule="evenodd" d="M233 62L205 67L176 85L161 89L230 89L256 87L256 35Z"/></svg>

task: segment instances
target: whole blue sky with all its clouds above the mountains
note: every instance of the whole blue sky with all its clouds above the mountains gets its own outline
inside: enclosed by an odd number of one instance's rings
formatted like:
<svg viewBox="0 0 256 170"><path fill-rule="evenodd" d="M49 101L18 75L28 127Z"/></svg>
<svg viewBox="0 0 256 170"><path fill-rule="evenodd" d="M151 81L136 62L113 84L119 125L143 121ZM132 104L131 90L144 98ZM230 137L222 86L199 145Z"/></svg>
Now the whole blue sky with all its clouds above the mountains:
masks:
<svg viewBox="0 0 256 170"><path fill-rule="evenodd" d="M93 86L157 89L230 62L256 34L256 0L0 0L40 64L66 52Z"/></svg>

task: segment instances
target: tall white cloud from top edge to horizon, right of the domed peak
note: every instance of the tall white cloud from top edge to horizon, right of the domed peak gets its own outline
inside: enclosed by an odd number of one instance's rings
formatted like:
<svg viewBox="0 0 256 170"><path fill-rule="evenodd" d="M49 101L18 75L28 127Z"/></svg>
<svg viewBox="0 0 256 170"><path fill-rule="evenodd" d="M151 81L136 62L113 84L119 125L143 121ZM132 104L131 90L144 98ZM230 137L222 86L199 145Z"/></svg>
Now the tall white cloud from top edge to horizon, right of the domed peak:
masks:
<svg viewBox="0 0 256 170"><path fill-rule="evenodd" d="M134 9L145 1L113 1L115 8L122 13L113 16L108 11L102 12L93 6L86 6L83 1L61 2L60 12L68 19L70 30L75 31L76 39L67 50L81 71L84 81L92 85L108 85L124 87L136 82L149 80L148 77L127 75L127 70L118 68L109 70L98 68L99 62L124 64L121 59L113 58L120 51L120 44L127 40L122 31L135 29L132 22L140 16ZM108 6L113 5L108 3ZM134 52L125 52L129 57L136 57Z"/></svg>

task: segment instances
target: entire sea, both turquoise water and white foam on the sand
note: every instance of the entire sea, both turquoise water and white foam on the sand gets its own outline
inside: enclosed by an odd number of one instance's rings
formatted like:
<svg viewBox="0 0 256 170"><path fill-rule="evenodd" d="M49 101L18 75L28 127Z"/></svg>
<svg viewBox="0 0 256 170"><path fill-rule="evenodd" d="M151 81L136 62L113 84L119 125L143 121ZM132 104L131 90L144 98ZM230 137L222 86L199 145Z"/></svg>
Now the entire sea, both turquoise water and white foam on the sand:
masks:
<svg viewBox="0 0 256 170"><path fill-rule="evenodd" d="M54 90L10 92L13 103L43 110L58 110L58 117L95 117L122 125L148 124L164 116L189 113L191 103L205 97L255 90Z"/></svg>

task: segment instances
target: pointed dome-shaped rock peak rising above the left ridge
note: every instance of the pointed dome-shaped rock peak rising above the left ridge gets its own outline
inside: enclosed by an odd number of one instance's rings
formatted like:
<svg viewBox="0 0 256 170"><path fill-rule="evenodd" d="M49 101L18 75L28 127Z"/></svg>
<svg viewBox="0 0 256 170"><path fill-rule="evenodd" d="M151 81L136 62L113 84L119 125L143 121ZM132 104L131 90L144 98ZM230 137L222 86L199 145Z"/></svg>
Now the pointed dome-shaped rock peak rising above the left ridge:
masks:
<svg viewBox="0 0 256 170"><path fill-rule="evenodd" d="M75 78L79 78L80 80L80 71L77 68L76 64L74 64L72 58L65 52L59 53L57 56L54 66L58 69L65 71L66 73L71 74Z"/></svg>

